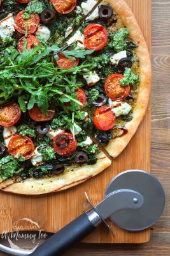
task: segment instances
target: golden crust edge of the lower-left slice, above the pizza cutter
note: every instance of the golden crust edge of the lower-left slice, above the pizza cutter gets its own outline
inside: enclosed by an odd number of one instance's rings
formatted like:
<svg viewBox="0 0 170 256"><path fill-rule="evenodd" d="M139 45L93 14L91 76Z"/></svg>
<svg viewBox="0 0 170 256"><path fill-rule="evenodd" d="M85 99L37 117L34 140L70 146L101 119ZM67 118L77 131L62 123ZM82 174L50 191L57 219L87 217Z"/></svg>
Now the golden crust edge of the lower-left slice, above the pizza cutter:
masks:
<svg viewBox="0 0 170 256"><path fill-rule="evenodd" d="M39 195L71 188L110 166L111 160L103 153L100 153L98 158L96 164L83 164L81 167L67 170L64 174L53 177L45 177L43 179L29 178L20 182L15 182L14 179L4 180L4 182L0 183L0 189L17 194Z"/></svg>

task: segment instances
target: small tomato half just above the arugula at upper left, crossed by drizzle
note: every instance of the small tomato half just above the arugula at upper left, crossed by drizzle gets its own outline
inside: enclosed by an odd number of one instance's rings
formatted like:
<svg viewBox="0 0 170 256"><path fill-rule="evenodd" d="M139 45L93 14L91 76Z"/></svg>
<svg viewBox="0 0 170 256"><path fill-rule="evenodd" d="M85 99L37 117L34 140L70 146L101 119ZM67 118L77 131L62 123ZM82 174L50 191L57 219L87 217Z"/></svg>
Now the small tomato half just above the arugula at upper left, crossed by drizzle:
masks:
<svg viewBox="0 0 170 256"><path fill-rule="evenodd" d="M28 35L27 38L25 38L25 36L22 36L22 38L20 38L20 40L18 41L18 51L19 52L23 52L24 49L24 43L25 43L25 39L27 39L27 45L26 45L26 49L29 51L32 48L34 48L35 45L41 45L38 41L38 39L36 38L36 36L33 35Z"/></svg>

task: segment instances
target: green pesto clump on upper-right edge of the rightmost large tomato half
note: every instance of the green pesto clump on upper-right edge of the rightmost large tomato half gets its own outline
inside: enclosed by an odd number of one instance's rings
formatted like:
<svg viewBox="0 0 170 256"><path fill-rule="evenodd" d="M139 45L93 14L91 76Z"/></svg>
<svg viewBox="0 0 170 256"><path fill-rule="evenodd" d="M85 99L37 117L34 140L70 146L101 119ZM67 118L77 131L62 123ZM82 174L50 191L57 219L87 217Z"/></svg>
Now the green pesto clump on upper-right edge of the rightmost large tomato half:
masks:
<svg viewBox="0 0 170 256"><path fill-rule="evenodd" d="M122 86L127 86L128 84L135 86L139 83L139 76L132 72L131 68L127 68L124 72L124 78L120 80Z"/></svg>

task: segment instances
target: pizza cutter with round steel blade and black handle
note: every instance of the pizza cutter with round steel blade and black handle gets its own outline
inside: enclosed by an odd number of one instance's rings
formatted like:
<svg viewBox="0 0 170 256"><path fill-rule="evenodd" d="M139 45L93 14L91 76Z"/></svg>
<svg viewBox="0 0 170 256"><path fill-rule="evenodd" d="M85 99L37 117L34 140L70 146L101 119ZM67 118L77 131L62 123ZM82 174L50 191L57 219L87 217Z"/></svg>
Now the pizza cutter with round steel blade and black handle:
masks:
<svg viewBox="0 0 170 256"><path fill-rule="evenodd" d="M153 175L141 170L122 172L111 180L102 202L92 205L89 211L47 239L31 255L62 255L103 221L106 223L107 218L125 230L151 227L162 214L164 205L164 189Z"/></svg>

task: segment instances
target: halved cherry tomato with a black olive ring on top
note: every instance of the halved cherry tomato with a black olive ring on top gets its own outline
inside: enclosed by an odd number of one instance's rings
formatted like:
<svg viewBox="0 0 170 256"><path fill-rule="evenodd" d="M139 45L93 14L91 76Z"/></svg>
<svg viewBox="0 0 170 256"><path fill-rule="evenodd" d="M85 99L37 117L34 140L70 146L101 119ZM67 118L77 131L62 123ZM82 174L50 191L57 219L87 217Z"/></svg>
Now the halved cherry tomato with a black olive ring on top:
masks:
<svg viewBox="0 0 170 256"><path fill-rule="evenodd" d="M73 134L60 132L53 138L53 148L60 156L71 156L76 151L77 141Z"/></svg>

